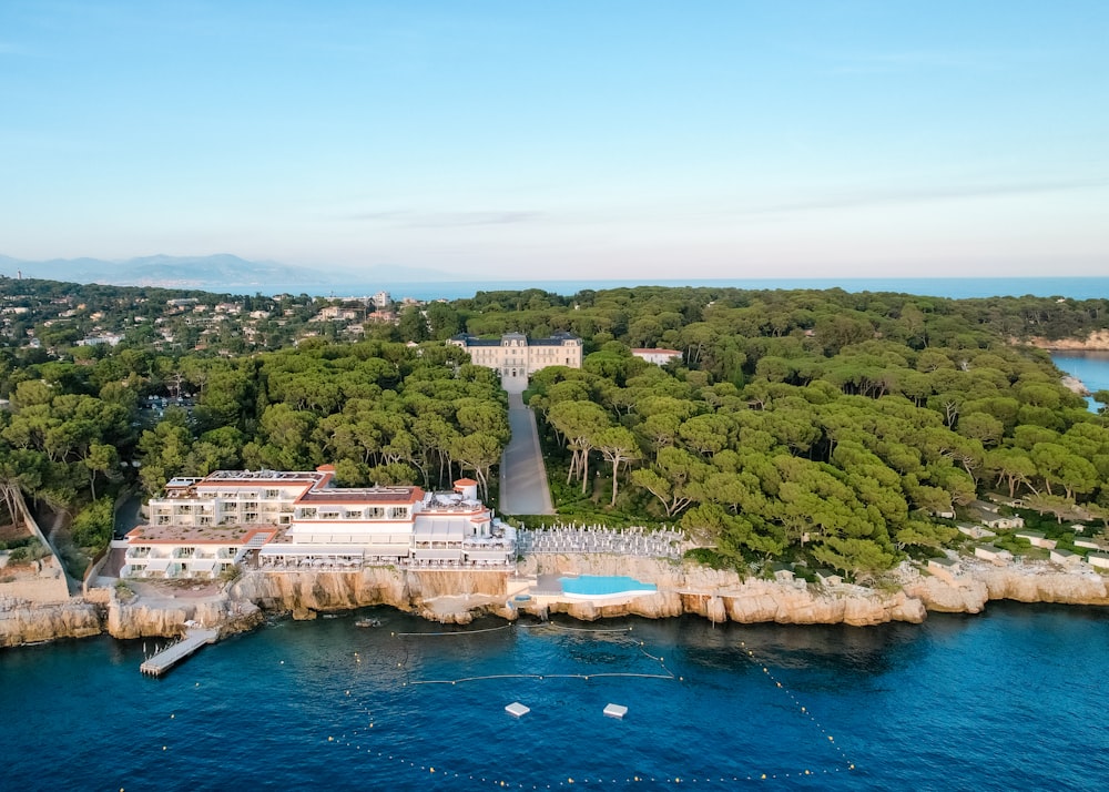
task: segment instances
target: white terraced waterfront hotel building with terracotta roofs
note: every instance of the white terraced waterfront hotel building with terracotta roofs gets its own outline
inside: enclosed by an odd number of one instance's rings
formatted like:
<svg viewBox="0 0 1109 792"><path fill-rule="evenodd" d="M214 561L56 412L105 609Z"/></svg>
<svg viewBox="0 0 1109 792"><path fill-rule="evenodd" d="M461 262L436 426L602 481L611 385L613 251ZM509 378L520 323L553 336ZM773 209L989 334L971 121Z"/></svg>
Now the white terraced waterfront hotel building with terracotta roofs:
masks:
<svg viewBox="0 0 1109 792"><path fill-rule="evenodd" d="M314 471L217 470L175 478L151 499L150 524L128 534L122 577L215 578L248 560L262 568L506 569L516 532L464 478L450 493L335 487Z"/></svg>

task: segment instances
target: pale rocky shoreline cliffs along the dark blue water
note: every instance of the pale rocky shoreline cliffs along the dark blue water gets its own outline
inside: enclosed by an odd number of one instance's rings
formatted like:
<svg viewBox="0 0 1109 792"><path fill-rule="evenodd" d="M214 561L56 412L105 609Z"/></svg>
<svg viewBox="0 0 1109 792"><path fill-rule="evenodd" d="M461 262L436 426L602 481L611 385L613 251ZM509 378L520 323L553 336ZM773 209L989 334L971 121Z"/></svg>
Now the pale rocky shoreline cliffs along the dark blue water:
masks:
<svg viewBox="0 0 1109 792"><path fill-rule="evenodd" d="M578 599L531 597L513 602L547 575L621 575L653 583L658 591ZM897 570L898 586L818 586L802 580L741 578L736 572L686 562L612 555L546 556L509 572L430 572L393 568L359 571L250 571L214 593L187 597L154 587L93 589L65 602L0 600L0 647L106 633L119 639L173 637L186 621L218 627L221 637L251 630L267 615L312 619L368 606L389 606L442 623L469 623L479 616L515 619L564 613L592 621L621 616L651 619L695 615L713 622L776 622L857 627L891 621L919 623L928 612L980 613L990 600L1109 606L1101 575L1064 570L1048 562L994 567L964 562L944 579L910 565Z"/></svg>

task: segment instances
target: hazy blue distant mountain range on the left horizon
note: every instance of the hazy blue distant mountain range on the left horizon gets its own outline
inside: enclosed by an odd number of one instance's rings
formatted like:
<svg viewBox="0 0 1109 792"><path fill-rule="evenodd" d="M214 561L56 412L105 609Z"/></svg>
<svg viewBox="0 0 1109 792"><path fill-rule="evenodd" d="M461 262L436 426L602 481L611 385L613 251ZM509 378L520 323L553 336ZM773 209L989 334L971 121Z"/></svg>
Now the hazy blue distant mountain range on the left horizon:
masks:
<svg viewBox="0 0 1109 792"><path fill-rule="evenodd" d="M214 292L273 292L305 287L455 281L457 276L435 270L373 266L357 270L303 267L277 262L252 262L230 254L211 256L142 256L128 261L55 258L45 262L0 256L0 274L16 277L103 283L115 286L202 288Z"/></svg>

